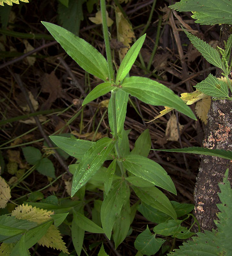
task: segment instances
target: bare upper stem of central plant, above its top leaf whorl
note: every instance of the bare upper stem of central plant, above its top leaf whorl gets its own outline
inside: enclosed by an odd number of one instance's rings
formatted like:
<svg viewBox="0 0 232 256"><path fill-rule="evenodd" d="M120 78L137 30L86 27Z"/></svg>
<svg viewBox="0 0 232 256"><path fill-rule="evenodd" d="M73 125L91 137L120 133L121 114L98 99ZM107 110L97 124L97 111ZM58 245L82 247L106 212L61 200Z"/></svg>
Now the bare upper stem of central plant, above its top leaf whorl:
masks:
<svg viewBox="0 0 232 256"><path fill-rule="evenodd" d="M108 34L108 27L107 27L107 20L106 20L106 2L105 2L105 0L100 0L100 4L101 4L103 35L104 35L104 41L105 41L105 46L106 46L106 57L107 57L108 69L109 69L109 79L110 79L110 81L114 81L114 70L113 70L113 64L112 64L112 58L111 58L109 34ZM113 80L111 80L111 79L113 79Z"/></svg>

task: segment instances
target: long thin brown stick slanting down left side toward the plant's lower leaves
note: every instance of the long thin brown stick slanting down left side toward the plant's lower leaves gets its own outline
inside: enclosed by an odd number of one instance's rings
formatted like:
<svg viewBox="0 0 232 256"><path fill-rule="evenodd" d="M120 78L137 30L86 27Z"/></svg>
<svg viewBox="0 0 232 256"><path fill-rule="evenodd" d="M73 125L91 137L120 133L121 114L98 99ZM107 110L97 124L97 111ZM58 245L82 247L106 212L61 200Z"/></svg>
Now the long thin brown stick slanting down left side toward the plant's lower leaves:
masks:
<svg viewBox="0 0 232 256"><path fill-rule="evenodd" d="M27 104L28 104L28 106L29 106L29 108L30 108L30 111L31 111L32 113L34 113L34 112L35 112L35 111L34 111L34 107L33 107L32 103L31 103L31 100L29 99L28 93L27 93L27 91L26 91L26 88L25 88L24 85L23 85L23 82L22 82L22 80L21 80L21 77L19 76L19 74L14 74L13 76L14 76L16 82L18 83L18 85L19 85L19 87L20 87L22 93L24 94L24 96L25 96L25 98L26 98L26 102L27 102ZM52 143L50 142L48 136L46 135L46 133L45 133L44 130L43 130L43 127L42 127L42 125L41 125L41 123L40 123L40 120L39 120L38 116L34 116L34 120L35 120L36 125L38 126L39 131L41 132L41 135L43 136L44 140L47 142L48 146L49 146L50 148L53 148ZM59 163L63 166L63 168L65 169L65 171L68 172L69 174L71 174L71 173L69 172L68 166L67 166L67 164L64 162L64 160L60 157L60 155L57 153L57 151L56 151L55 149L53 149L53 150L54 150L54 152L55 152L55 156L56 156L57 160L58 160Z"/></svg>

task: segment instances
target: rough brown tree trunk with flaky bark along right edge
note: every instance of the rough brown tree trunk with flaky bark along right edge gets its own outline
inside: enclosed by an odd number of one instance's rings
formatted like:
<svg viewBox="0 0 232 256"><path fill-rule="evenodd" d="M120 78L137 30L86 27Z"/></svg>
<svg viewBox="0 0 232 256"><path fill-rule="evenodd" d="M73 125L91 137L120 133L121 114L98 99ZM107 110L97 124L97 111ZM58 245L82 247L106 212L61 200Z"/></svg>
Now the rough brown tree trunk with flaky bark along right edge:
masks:
<svg viewBox="0 0 232 256"><path fill-rule="evenodd" d="M223 41L227 41L231 34L231 26L222 25L221 48L224 48ZM220 69L217 69L216 76L221 76ZM231 95L231 94L230 94ZM208 123L205 128L203 147L232 150L232 101L212 101L208 113ZM217 219L216 204L220 203L217 195L220 192L218 183L222 182L223 175L229 168L229 180L232 181L232 166L230 160L213 156L202 156L199 173L194 189L195 209L194 215L199 221L201 231L216 229L213 220ZM194 226L197 232L197 226Z"/></svg>

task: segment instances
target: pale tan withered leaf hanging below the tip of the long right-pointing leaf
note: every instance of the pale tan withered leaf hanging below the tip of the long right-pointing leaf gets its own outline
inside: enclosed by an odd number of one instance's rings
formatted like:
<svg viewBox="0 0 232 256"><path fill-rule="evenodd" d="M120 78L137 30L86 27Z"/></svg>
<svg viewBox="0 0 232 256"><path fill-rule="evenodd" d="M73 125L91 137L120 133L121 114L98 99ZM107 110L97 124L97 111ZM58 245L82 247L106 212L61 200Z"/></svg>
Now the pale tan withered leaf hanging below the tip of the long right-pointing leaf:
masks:
<svg viewBox="0 0 232 256"><path fill-rule="evenodd" d="M183 125L179 124L179 130L180 130L180 134L183 130ZM179 140L179 134L178 134L178 130L177 130L177 120L176 120L176 116L172 115L170 117L170 119L168 120L167 123L167 128L165 131L165 137L167 138L167 140L171 140L171 141L178 141Z"/></svg>

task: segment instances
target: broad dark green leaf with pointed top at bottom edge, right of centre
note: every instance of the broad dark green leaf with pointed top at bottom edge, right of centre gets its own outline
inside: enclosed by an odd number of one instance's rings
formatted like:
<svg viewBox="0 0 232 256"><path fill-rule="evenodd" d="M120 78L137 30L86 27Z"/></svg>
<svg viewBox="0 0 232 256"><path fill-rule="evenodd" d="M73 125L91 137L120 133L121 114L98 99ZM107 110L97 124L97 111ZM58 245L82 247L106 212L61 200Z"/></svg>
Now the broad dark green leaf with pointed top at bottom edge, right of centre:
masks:
<svg viewBox="0 0 232 256"><path fill-rule="evenodd" d="M147 226L146 229L137 236L135 248L142 254L150 256L158 252L164 242L165 240L161 238L155 238L155 235L152 235Z"/></svg>

